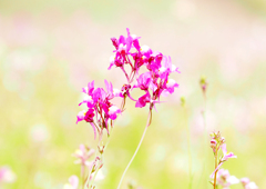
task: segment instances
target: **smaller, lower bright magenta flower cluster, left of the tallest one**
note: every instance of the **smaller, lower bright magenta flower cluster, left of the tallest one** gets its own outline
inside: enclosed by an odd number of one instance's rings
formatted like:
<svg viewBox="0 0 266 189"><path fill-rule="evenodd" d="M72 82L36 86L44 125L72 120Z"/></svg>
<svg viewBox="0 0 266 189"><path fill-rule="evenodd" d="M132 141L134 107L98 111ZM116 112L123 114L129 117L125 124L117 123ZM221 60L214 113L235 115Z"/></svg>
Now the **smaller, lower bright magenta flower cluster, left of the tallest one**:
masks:
<svg viewBox="0 0 266 189"><path fill-rule="evenodd" d="M88 109L80 111L76 116L79 121L89 122L94 131L94 139L96 138L96 130L102 135L103 129L106 129L109 133L109 120L115 120L117 113L121 113L121 110L110 102L114 97L123 97L117 89L113 89L111 82L104 80L106 91L103 88L94 88L94 81L89 82L88 87L82 88L85 97L83 101L79 105L85 103Z"/></svg>

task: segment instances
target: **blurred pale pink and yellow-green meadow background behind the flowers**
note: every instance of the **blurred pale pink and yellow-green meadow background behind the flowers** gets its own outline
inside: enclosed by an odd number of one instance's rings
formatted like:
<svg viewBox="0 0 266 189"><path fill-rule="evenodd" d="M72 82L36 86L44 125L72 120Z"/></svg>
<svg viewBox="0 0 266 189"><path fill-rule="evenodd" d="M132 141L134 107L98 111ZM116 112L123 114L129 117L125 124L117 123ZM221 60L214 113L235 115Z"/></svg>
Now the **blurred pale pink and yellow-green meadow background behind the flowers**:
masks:
<svg viewBox="0 0 266 189"><path fill-rule="evenodd" d="M75 125L81 88L92 80L96 87L104 79L116 88L125 82L119 69L108 70L110 38L126 34L125 28L142 46L171 56L182 73L173 73L180 88L157 106L123 188L131 181L143 189L187 188L187 122L193 188L207 188L204 157L207 176L214 160L208 146L204 152L202 74L207 131L219 130L237 155L224 168L266 188L265 0L1 0L0 167L16 176L0 188L61 189L80 175L71 155L80 143L96 148L91 126ZM129 102L119 117L98 188L117 187L147 111Z"/></svg>

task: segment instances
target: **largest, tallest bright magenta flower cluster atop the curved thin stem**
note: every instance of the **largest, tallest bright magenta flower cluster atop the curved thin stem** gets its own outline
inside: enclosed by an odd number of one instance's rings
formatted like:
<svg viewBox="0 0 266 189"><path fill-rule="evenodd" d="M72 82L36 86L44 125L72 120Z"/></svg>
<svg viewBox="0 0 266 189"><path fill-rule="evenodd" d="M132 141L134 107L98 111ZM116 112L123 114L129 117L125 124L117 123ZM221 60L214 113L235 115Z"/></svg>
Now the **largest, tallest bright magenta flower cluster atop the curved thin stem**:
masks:
<svg viewBox="0 0 266 189"><path fill-rule="evenodd" d="M110 58L109 69L113 66L121 68L127 79L127 83L122 87L122 92L136 102L135 107L143 108L150 103L150 109L152 109L155 103L160 103L162 93L173 93L174 88L178 87L177 82L168 77L172 72L180 71L172 64L171 57L153 51L147 46L141 47L140 37L131 34L130 30L126 30L127 37L111 38L115 48L115 56ZM130 67L130 73L126 72L126 64ZM147 71L140 74L140 69L143 66ZM132 86L134 78L136 83ZM130 93L134 88L144 91L144 94L137 100L132 98Z"/></svg>

